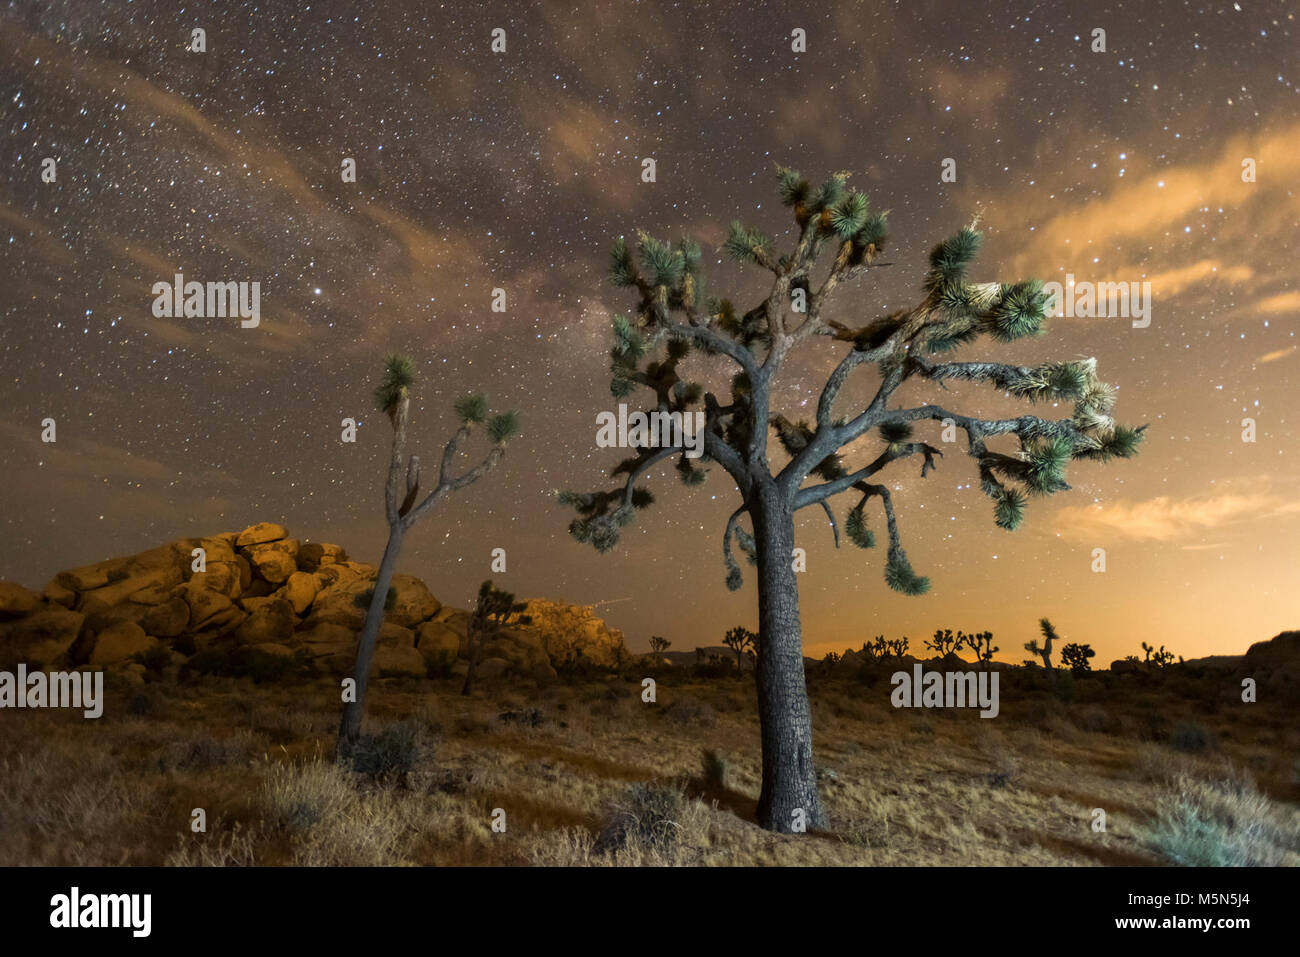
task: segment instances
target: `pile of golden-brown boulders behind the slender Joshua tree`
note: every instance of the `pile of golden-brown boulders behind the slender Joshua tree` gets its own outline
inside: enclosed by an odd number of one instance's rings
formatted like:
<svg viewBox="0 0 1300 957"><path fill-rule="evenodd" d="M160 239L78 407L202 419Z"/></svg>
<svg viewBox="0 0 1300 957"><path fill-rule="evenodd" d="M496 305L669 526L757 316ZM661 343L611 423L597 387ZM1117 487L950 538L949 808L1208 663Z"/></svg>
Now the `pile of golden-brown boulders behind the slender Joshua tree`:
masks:
<svg viewBox="0 0 1300 957"><path fill-rule="evenodd" d="M181 654L247 646L306 655L326 674L356 659L377 568L339 545L299 542L281 524L182 538L60 572L42 592L0 581L0 667L105 666L131 675L160 644ZM568 663L616 667L621 632L592 607L528 602L532 623L484 641L476 679L546 680ZM443 606L424 581L395 575L374 674L420 677L465 666L469 612Z"/></svg>

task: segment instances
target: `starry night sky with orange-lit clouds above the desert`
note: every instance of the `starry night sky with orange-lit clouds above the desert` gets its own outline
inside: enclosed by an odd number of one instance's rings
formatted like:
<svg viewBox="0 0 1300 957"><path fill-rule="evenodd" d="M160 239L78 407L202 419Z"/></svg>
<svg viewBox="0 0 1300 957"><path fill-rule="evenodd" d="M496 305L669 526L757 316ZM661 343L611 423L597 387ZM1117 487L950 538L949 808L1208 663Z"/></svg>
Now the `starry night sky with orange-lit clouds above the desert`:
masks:
<svg viewBox="0 0 1300 957"><path fill-rule="evenodd" d="M1062 317L1046 337L953 356L1096 356L1119 386L1117 419L1149 429L1135 459L1072 465L1072 490L1031 502L1014 533L993 525L962 446L924 480L919 462L892 465L878 481L896 490L930 594L890 592L883 547L836 551L820 511L800 512L809 653L881 633L915 650L948 627L991 629L997 657L1018 662L1043 615L1102 666L1144 640L1188 658L1240 653L1300 625L1294 10L9 3L0 577L39 588L61 568L260 520L377 563L390 428L370 390L402 350L417 363L411 441L426 463L464 393L520 408L524 429L495 472L407 537L399 571L464 606L504 547L497 584L608 602L598 612L634 650L650 635L690 650L755 627L753 570L741 592L724 586L736 493L720 467L685 488L666 464L656 506L603 557L569 538L554 494L606 486L624 455L594 442L597 412L616 404L610 316L636 306L606 281L611 239L692 235L712 290L749 308L764 273L718 247L734 217L793 230L781 163L815 181L850 170L892 211L893 265L841 286L832 319L863 325L916 302L926 252L976 212L978 280L1070 273L1149 281L1154 296L1145 329ZM194 27L204 53L186 49ZM806 52L790 48L796 27ZM1106 52L1091 51L1096 27ZM940 179L945 157L957 182ZM1247 157L1257 182L1242 181ZM177 272L259 281L260 326L155 319L152 285ZM838 355L822 342L792 361L774 411L811 416ZM729 368L689 361L727 394ZM874 373L859 374L845 398L863 402ZM927 389L900 402L923 404ZM970 384L944 404L1023 408ZM360 421L355 445L339 441L344 416ZM859 445L850 467L879 451L875 437ZM837 502L841 518L853 501ZM868 515L880 534L879 503ZM1105 573L1091 570L1096 547Z"/></svg>

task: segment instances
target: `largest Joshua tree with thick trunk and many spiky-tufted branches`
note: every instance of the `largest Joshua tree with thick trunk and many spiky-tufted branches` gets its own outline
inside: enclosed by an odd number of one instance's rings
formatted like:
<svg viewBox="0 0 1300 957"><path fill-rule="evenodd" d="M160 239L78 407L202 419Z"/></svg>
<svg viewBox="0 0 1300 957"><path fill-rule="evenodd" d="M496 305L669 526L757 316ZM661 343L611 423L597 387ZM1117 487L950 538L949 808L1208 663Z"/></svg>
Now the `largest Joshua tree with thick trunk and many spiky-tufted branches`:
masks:
<svg viewBox="0 0 1300 957"><path fill-rule="evenodd" d="M867 198L837 173L812 186L790 169L779 169L781 199L794 213L797 239L779 252L758 229L732 222L724 248L741 263L770 274L766 298L748 312L727 299L703 293L699 246L689 239L671 244L645 233L633 250L618 239L611 254L611 278L638 296L632 319L614 319L612 385L618 399L645 389L649 411L703 411L705 459L722 465L740 492L740 505L723 529L727 585L741 585L732 551L734 540L758 568L758 707L763 748L759 822L771 830L826 824L812 763L812 727L803 679L802 637L796 572L792 566L794 515L820 508L838 538L831 499L848 493L844 528L859 547L875 544L866 506L879 501L884 512L888 550L884 579L905 594L922 594L930 583L913 571L894 516L893 493L871 480L888 465L919 456L924 477L940 451L913 437L922 423L961 429L979 472L980 488L992 499L993 518L1006 529L1020 524L1028 498L1066 488L1071 459L1109 460L1132 455L1141 429L1117 425L1110 417L1114 390L1097 378L1092 359L1022 367L993 361L942 361L944 354L987 335L1010 342L1043 330L1048 296L1034 280L1011 285L975 282L967 269L980 248L974 224L945 239L930 255L919 302L850 328L829 319L832 294L878 265L887 239L885 213L870 209ZM822 267L819 267L819 263ZM814 274L816 273L816 274ZM842 342L844 355L822 387L816 416L796 421L774 412L777 376L790 355L812 347L819 338ZM720 400L679 374L692 351L720 361L733 373L731 397ZM858 367L874 365L874 397L852 408L837 398ZM924 380L946 389L952 382L984 382L1030 402L1067 403L1063 419L1036 415L982 419L946 404L896 404L900 389ZM845 404L845 403L841 403ZM878 430L883 441L874 458L846 467L841 450ZM775 437L785 460L770 464L768 439ZM1014 437L1018 449L997 451L991 439ZM694 485L705 469L681 445L633 449L612 476L611 490L566 492L560 501L576 508L572 534L601 551L615 545L633 515L653 502L637 482L668 458L677 456L682 481ZM809 481L811 477L811 482ZM748 518L751 532L741 523Z"/></svg>

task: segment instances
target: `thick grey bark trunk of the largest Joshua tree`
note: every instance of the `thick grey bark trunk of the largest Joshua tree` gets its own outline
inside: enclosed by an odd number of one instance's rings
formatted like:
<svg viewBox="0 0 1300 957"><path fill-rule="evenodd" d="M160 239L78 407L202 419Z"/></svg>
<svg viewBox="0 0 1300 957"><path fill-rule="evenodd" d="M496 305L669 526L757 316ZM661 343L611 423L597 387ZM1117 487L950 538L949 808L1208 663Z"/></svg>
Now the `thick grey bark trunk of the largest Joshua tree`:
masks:
<svg viewBox="0 0 1300 957"><path fill-rule="evenodd" d="M803 677L800 592L792 566L794 516L775 490L759 493L758 629L755 662L758 720L763 740L763 791L758 823L790 833L801 818L807 830L826 827L812 763L812 715Z"/></svg>

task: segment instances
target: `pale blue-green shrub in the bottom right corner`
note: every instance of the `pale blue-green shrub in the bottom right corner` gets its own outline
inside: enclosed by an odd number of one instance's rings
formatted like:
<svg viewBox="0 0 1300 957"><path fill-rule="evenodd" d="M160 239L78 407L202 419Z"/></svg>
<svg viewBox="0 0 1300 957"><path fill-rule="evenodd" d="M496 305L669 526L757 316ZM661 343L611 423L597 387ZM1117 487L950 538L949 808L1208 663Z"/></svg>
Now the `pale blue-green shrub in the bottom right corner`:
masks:
<svg viewBox="0 0 1300 957"><path fill-rule="evenodd" d="M1190 867L1300 863L1300 820L1275 807L1248 779L1180 776L1157 807L1152 846Z"/></svg>

